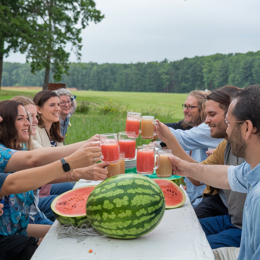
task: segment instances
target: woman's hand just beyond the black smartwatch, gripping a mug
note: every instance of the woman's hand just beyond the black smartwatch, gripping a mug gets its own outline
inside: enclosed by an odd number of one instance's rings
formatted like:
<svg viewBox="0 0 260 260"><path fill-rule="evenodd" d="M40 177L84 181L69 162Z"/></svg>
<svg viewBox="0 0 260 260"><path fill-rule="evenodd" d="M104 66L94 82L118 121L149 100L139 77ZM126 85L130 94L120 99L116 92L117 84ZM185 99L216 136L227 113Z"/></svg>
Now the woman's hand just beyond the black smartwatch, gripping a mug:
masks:
<svg viewBox="0 0 260 260"><path fill-rule="evenodd" d="M73 154L65 158L70 164L70 168L83 168L95 164L100 160L101 147L100 142L87 142Z"/></svg>

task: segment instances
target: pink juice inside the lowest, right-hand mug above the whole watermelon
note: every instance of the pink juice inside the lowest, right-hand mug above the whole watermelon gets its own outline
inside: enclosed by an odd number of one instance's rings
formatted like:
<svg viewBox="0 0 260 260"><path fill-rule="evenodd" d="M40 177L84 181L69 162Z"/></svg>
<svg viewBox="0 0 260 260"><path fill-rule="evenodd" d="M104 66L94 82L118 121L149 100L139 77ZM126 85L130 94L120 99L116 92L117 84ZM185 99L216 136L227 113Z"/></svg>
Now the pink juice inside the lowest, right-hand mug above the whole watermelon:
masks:
<svg viewBox="0 0 260 260"><path fill-rule="evenodd" d="M136 155L136 171L139 174L151 174L154 167L154 151L141 149Z"/></svg>

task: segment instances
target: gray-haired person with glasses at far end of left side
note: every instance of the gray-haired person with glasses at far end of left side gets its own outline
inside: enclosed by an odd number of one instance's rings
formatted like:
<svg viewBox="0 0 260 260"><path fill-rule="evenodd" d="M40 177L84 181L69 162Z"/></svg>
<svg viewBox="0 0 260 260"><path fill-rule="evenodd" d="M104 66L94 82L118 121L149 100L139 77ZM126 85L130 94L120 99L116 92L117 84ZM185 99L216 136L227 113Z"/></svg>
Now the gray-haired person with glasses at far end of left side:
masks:
<svg viewBox="0 0 260 260"><path fill-rule="evenodd" d="M61 124L61 135L67 136L67 128L69 125L69 119L74 114L77 108L77 102L75 100L76 96L72 95L70 91L66 88L60 88L54 90L58 95L60 100L61 114L60 114L60 124Z"/></svg>

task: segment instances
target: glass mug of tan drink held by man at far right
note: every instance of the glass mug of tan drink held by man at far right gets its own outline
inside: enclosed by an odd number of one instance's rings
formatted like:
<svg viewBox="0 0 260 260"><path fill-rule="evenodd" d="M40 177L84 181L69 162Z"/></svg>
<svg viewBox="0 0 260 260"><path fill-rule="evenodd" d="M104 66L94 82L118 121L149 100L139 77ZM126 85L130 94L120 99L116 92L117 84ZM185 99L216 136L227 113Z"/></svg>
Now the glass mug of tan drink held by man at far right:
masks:
<svg viewBox="0 0 260 260"><path fill-rule="evenodd" d="M160 155L160 165L155 170L157 177L166 178L172 175L172 162L168 159L168 156L172 155L172 150L162 149L158 150Z"/></svg>

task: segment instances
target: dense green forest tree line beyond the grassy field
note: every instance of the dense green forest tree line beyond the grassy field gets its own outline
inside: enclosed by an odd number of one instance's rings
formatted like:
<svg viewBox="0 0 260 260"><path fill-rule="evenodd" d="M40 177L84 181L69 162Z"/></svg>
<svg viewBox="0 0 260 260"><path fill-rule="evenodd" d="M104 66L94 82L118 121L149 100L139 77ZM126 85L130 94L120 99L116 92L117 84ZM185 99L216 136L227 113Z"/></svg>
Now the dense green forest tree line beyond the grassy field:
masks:
<svg viewBox="0 0 260 260"><path fill-rule="evenodd" d="M42 86L45 70L32 74L30 63L3 63L2 86ZM53 75L50 75L50 82ZM215 54L179 61L135 64L71 63L61 83L78 90L187 93L224 85L260 84L260 51Z"/></svg>

